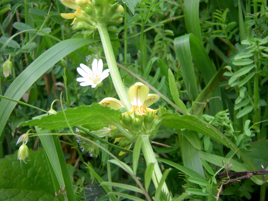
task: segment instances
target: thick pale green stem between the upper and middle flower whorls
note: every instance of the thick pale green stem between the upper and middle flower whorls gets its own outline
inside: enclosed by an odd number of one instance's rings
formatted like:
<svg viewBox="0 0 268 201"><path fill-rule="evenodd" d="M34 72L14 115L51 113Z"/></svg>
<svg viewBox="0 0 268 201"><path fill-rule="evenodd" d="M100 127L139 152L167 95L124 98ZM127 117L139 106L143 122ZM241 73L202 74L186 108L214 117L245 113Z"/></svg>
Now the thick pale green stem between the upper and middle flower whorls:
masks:
<svg viewBox="0 0 268 201"><path fill-rule="evenodd" d="M121 76L118 71L118 67L116 64L116 59L113 53L113 47L111 44L111 40L106 28L105 23L98 23L97 28L99 30L99 35L102 40L102 46L105 53L105 57L107 60L107 64L110 70L110 74L113 80L114 87L116 89L116 92L120 98L120 100L123 102L125 108L127 111L131 110L132 105L130 101L128 100L127 91L124 87L124 84L121 80Z"/></svg>

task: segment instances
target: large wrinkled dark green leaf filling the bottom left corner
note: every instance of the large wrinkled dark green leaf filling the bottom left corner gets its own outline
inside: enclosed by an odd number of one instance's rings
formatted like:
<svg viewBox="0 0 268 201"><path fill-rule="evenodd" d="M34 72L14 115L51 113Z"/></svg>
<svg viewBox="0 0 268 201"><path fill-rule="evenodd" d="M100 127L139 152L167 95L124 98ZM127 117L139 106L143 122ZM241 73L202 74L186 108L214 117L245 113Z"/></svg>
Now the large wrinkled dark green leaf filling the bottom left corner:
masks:
<svg viewBox="0 0 268 201"><path fill-rule="evenodd" d="M0 160L0 200L57 200L45 152L30 150L30 161L18 152Z"/></svg>

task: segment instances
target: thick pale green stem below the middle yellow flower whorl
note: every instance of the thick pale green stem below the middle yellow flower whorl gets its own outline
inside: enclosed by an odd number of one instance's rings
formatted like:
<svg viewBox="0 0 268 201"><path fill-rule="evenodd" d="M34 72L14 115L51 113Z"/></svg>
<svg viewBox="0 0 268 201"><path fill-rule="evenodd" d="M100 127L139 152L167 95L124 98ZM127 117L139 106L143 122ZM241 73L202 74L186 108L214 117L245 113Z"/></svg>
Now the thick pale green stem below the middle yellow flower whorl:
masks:
<svg viewBox="0 0 268 201"><path fill-rule="evenodd" d="M162 178L162 172L158 166L158 161L155 158L155 153L152 149L151 143L149 141L149 135L142 135L142 141L141 141L141 149L146 161L147 166L150 163L155 163L154 172L152 174L152 180L155 185L155 188L158 187L158 183L160 182ZM166 182L162 186L162 190L167 194L169 193L169 189L166 186Z"/></svg>

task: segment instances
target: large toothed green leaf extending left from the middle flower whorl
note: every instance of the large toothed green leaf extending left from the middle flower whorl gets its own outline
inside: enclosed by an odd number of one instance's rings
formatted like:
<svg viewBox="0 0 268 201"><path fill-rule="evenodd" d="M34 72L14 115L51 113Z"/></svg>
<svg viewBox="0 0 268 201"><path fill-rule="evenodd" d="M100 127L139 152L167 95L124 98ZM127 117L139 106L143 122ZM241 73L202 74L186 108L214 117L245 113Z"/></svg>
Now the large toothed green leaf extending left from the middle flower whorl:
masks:
<svg viewBox="0 0 268 201"><path fill-rule="evenodd" d="M99 130L107 124L117 124L120 121L121 112L110 107L96 105L83 105L77 108L69 108L64 111L70 126L80 125L89 130ZM27 121L21 124L39 126L42 130L53 130L68 127L63 111L56 115L44 116L41 119Z"/></svg>

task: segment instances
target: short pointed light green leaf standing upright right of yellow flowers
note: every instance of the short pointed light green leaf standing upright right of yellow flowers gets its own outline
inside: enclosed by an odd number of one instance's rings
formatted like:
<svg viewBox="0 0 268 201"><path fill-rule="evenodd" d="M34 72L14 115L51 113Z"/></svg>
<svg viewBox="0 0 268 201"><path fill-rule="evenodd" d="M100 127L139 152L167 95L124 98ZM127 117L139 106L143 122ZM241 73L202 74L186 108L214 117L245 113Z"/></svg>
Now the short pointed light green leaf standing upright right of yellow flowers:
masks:
<svg viewBox="0 0 268 201"><path fill-rule="evenodd" d="M180 109L182 109L185 113L188 113L186 106L184 105L184 103L180 100L180 95L177 89L177 85L174 79L174 75L172 73L172 71L169 68L169 89L172 95L172 98L175 102L175 104L180 107Z"/></svg>

